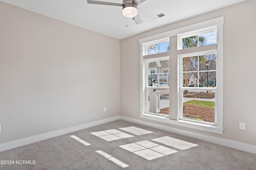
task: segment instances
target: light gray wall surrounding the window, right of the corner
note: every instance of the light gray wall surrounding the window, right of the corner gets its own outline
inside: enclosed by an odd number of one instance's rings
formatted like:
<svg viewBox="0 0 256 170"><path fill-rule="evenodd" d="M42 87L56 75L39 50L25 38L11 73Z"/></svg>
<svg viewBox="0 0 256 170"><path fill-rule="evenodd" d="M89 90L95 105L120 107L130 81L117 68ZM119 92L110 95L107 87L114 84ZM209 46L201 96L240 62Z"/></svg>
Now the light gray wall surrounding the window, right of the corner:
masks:
<svg viewBox="0 0 256 170"><path fill-rule="evenodd" d="M160 123L169 127L176 127L188 131L202 133L213 137L229 139L250 145L256 145L256 1L244 2L202 14L193 18L165 25L120 41L120 114L140 118L140 46L139 39L170 31L194 23L224 16L224 107L223 107L223 135L188 129L180 126ZM175 17L175 16L174 16ZM130 50L132 49L132 50ZM130 69L133 68L133 69ZM171 74L171 72L170 72ZM129 84L130 75L133 75L133 84ZM176 83L176 82L174 82ZM171 86L172 84L170 84ZM239 122L244 122L246 130L238 128Z"/></svg>

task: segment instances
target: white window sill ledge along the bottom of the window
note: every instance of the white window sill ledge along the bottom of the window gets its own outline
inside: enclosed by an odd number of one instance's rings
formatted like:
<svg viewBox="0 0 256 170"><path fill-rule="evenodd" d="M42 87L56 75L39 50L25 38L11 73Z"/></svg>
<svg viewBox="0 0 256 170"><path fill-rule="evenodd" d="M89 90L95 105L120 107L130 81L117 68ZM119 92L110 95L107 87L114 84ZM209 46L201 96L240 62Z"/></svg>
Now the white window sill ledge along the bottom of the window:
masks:
<svg viewBox="0 0 256 170"><path fill-rule="evenodd" d="M169 117L151 115L148 113L144 113L144 114L140 113L140 117L144 118L144 119L150 119L150 120L154 120L154 121L163 122L163 123L169 123L172 125L188 127L191 129L197 129L197 130L201 130L201 131L208 131L208 132L212 132L212 133L223 134L223 129L218 128L215 125L206 125L206 124L202 124L202 123L196 123L196 122L184 121L184 120L172 120L172 119L169 119Z"/></svg>

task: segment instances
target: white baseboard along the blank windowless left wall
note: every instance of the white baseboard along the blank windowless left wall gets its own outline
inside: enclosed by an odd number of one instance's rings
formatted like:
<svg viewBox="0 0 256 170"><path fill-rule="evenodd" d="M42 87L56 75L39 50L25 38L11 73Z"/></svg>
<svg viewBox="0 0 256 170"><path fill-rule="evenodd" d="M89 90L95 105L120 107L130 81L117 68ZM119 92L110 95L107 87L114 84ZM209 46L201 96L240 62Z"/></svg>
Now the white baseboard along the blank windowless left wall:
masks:
<svg viewBox="0 0 256 170"><path fill-rule="evenodd" d="M28 145L30 143L42 141L42 140L49 139L49 138L52 138L52 137L57 137L57 136L64 135L64 134L67 134L67 133L80 131L80 130L86 129L88 127L94 127L94 126L97 126L97 125L101 125L101 124L108 123L108 122L111 122L111 121L116 121L116 120L119 120L119 119L120 119L120 116L118 115L118 116L110 117L110 118L107 118L107 119L102 119L102 120L94 121L94 122L91 122L91 123L86 123L86 124L83 124L83 125L78 125L78 126L69 127L69 128L66 128L66 129L61 129L61 130L58 130L58 131L47 132L47 133L43 133L43 134L39 134L39 135L34 135L34 136L31 136L31 137L18 139L18 140L15 140L15 141L1 143L0 144L0 152L3 151L3 150L13 149L13 148L16 148L16 147L21 147L23 145Z"/></svg>

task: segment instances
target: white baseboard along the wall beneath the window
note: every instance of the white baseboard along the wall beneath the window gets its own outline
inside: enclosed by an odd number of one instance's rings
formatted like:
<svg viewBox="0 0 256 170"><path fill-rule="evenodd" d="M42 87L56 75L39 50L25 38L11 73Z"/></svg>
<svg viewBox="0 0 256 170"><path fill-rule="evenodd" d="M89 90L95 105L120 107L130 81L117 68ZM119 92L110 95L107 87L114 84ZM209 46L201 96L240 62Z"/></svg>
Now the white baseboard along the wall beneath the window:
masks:
<svg viewBox="0 0 256 170"><path fill-rule="evenodd" d="M125 121L130 121L130 122L133 122L133 123L138 123L138 124L145 125L145 126L149 126L149 127L153 127L153 128L160 129L160 130L163 130L163 131L177 133L177 134L180 134L180 135L184 135L184 136L187 136L187 137L192 137L192 138L199 139L199 140L202 140L202 141L207 141L207 142L210 142L210 143L215 143L215 144L218 144L218 145L223 145L223 146L226 146L226 147L230 147L230 148L234 148L234 149L238 149L238 150L243 150L245 152L250 152L250 153L256 154L256 146L254 146L254 145L248 145L248 144L245 144L245 143L231 141L231 140L228 140L228 139L212 137L212 136L208 136L208 135L204 135L204 134L200 134L200 133L195 133L195 132L191 132L191 131L177 129L177 128L174 128L174 127L159 125L159 124L156 124L156 123L142 121L142 120L138 120L138 119L133 119L133 118L126 117L126 116L120 116L120 119L125 120Z"/></svg>

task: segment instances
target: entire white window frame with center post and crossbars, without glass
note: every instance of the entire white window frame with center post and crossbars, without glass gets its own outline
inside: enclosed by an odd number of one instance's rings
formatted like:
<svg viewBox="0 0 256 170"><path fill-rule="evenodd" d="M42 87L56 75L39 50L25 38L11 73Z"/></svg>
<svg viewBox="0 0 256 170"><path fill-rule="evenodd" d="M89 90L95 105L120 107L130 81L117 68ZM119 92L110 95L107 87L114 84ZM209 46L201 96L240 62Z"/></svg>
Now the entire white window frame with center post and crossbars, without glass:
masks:
<svg viewBox="0 0 256 170"><path fill-rule="evenodd" d="M202 130L202 131L208 131L212 133L218 133L223 134L223 23L224 23L224 17L215 18L208 21L203 21L200 23L195 23L193 25L188 25L186 27L181 27L178 29L174 29L171 31L167 31L164 33L160 33L157 35L152 35L150 37L146 37L143 39L140 39L140 117L143 119L158 121L162 123L168 123L170 125L178 125L180 127L186 127L196 130ZM194 48L188 48L188 49L179 49L180 44L180 37L182 35L186 35L187 33L191 33L191 31L203 30L207 29L208 27L217 27L217 44L212 45L205 45L200 47L194 47ZM203 29L202 29L203 28ZM179 37L178 37L179 36ZM148 42L154 42L156 43L157 40L160 39L170 39L170 51L165 53L158 53L154 55L146 55L146 45ZM217 107L217 114L218 114L218 121L217 125L209 125L206 123L198 123L198 122L192 122L192 121L186 121L180 119L180 88L179 88L179 81L180 81L180 61L178 60L179 55L184 54L190 54L190 53L196 53L198 51L211 51L216 50L217 56L218 56L218 64L217 64L217 71L218 76L216 77L216 81L218 82L218 90L216 89L216 95L218 95L218 100L216 101ZM169 117L163 117L159 115L150 115L146 113L145 111L145 68L146 68L146 59L153 59L156 57L166 57L170 56L170 82L177 82L173 84L169 84L170 87L170 100L172 100L172 103L170 103L170 116ZM171 65L172 64L172 65ZM171 67L173 67L171 69ZM176 95L177 94L177 95ZM172 108L171 108L172 107Z"/></svg>

